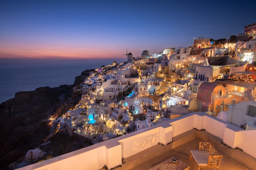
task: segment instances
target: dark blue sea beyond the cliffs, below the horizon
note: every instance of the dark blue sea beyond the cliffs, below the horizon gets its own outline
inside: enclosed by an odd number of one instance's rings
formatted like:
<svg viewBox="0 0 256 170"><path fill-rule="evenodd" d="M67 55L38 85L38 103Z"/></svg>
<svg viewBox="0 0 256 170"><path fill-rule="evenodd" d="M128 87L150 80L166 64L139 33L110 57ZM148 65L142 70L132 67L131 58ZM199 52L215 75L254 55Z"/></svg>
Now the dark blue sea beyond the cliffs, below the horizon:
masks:
<svg viewBox="0 0 256 170"><path fill-rule="evenodd" d="M122 62L117 59L0 59L0 103L19 91L71 85L82 71L113 61Z"/></svg>

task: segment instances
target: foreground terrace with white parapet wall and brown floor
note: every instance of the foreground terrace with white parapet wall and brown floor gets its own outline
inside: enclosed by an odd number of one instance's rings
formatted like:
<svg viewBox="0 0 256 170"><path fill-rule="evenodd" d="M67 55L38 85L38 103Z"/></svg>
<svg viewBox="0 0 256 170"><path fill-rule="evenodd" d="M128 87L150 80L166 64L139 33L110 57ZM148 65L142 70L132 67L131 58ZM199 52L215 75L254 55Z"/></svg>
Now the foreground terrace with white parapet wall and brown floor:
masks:
<svg viewBox="0 0 256 170"><path fill-rule="evenodd" d="M187 163L190 169L197 169L195 161L187 159L190 150L198 149L199 141L211 142L223 155L220 169L256 167L255 130L245 131L204 112L196 112L20 169L97 170L104 165L108 169L119 165L122 167L118 169L147 169L172 155Z"/></svg>

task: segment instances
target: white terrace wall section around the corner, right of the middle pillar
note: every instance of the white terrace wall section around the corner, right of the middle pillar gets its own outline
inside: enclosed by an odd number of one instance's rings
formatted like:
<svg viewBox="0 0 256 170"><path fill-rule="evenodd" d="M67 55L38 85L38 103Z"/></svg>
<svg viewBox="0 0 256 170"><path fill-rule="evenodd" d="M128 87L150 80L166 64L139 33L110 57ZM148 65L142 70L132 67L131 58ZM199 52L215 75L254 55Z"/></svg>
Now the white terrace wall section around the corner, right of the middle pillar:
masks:
<svg viewBox="0 0 256 170"><path fill-rule="evenodd" d="M214 136L223 139L224 144L232 148L239 147L256 158L256 130L245 131L220 119L206 115L204 112L188 114L171 121L173 121L170 123L173 126L172 137L194 127L199 130L205 129Z"/></svg>

